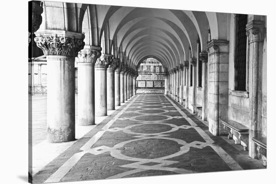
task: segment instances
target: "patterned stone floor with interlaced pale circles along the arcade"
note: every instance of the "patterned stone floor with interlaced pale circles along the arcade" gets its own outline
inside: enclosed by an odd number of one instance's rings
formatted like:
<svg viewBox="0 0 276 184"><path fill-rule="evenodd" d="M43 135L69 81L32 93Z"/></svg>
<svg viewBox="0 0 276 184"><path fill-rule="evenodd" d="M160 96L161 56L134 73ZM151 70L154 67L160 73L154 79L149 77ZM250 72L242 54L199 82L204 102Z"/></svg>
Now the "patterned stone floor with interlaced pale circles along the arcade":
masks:
<svg viewBox="0 0 276 184"><path fill-rule="evenodd" d="M140 94L34 176L34 183L264 168L242 147L209 133L183 106Z"/></svg>

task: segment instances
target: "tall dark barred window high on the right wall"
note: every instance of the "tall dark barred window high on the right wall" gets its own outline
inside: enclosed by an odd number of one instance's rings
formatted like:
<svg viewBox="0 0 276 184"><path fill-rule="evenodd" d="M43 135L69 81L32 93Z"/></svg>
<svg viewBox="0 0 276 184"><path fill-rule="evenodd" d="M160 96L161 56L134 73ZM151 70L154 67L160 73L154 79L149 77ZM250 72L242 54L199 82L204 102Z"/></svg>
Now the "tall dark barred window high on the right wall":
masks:
<svg viewBox="0 0 276 184"><path fill-rule="evenodd" d="M236 15L236 35L235 35L235 90L246 90L246 14Z"/></svg>

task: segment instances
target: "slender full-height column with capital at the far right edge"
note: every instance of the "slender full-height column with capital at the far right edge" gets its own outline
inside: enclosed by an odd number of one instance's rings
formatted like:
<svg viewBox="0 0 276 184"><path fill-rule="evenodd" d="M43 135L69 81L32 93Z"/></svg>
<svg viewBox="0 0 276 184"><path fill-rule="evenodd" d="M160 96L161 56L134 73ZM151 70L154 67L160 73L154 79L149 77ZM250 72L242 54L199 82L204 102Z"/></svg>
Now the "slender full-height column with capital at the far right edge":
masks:
<svg viewBox="0 0 276 184"><path fill-rule="evenodd" d="M255 16L255 15L253 15ZM253 17L252 17L253 18ZM252 137L258 136L259 110L261 109L259 67L262 64L260 53L262 52L262 44L264 39L264 21L251 20L246 24L246 34L249 42L249 107L250 107L250 121L249 121L249 156L257 157L257 145L252 141Z"/></svg>

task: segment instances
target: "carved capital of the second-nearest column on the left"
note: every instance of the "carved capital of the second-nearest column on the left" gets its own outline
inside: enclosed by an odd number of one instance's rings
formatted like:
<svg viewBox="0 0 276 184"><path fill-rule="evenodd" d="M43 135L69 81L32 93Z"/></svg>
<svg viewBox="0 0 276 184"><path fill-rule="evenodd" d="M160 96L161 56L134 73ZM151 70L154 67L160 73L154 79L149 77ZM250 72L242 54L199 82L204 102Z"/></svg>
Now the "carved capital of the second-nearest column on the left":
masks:
<svg viewBox="0 0 276 184"><path fill-rule="evenodd" d="M101 52L92 48L83 48L78 52L78 62L91 62L95 64L97 58L99 58Z"/></svg>

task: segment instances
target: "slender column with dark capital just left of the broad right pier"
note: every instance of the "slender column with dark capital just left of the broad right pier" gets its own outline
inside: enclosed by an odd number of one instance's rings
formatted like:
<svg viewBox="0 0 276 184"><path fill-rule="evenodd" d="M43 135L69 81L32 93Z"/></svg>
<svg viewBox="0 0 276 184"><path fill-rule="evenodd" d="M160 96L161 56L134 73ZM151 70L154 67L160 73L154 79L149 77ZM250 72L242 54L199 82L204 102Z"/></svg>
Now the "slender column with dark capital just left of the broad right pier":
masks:
<svg viewBox="0 0 276 184"><path fill-rule="evenodd" d="M200 52L199 59L202 61L202 120L207 120L207 61L208 53Z"/></svg>

